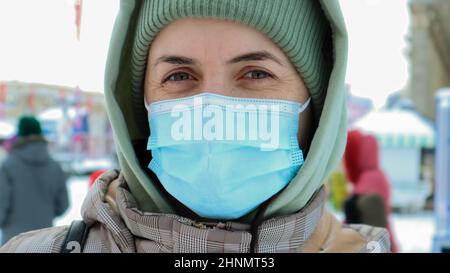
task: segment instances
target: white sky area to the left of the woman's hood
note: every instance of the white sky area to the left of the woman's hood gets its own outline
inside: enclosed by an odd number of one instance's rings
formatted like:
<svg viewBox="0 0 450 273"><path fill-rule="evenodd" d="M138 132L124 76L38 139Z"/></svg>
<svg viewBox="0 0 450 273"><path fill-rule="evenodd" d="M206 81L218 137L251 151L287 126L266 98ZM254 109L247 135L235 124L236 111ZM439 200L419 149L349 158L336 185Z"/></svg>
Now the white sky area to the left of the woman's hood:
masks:
<svg viewBox="0 0 450 273"><path fill-rule="evenodd" d="M117 0L84 0L76 39L74 0L0 0L0 80L102 91Z"/></svg>

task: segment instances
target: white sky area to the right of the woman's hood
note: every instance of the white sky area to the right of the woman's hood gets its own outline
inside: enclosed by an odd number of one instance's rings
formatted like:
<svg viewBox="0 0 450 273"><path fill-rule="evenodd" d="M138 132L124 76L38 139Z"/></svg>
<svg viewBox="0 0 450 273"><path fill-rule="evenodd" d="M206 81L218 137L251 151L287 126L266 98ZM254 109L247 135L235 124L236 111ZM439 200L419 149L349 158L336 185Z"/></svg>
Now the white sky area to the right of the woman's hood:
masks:
<svg viewBox="0 0 450 273"><path fill-rule="evenodd" d="M339 0L349 36L346 82L376 108L408 83L407 0Z"/></svg>

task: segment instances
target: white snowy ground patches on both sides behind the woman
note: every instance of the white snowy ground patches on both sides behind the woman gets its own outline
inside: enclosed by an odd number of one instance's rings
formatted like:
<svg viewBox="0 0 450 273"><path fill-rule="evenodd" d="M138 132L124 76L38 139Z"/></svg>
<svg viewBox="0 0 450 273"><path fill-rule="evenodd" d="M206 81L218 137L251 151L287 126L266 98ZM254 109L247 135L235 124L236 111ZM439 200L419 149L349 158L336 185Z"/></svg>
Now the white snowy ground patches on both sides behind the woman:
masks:
<svg viewBox="0 0 450 273"><path fill-rule="evenodd" d="M71 205L67 212L57 219L55 225L69 225L72 220L81 219L81 206L88 190L88 177L72 177L68 181ZM394 214L392 223L402 252L430 252L434 234L434 218L429 212Z"/></svg>

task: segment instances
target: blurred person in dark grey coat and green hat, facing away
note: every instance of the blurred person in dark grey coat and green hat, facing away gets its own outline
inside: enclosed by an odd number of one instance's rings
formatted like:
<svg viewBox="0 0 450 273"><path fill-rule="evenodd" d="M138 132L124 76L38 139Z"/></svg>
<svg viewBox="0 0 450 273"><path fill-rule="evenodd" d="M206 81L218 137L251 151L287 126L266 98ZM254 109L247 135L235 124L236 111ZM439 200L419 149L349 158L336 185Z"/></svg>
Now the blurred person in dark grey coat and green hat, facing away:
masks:
<svg viewBox="0 0 450 273"><path fill-rule="evenodd" d="M52 226L68 207L66 177L49 155L38 120L23 116L0 167L3 243L22 232Z"/></svg>

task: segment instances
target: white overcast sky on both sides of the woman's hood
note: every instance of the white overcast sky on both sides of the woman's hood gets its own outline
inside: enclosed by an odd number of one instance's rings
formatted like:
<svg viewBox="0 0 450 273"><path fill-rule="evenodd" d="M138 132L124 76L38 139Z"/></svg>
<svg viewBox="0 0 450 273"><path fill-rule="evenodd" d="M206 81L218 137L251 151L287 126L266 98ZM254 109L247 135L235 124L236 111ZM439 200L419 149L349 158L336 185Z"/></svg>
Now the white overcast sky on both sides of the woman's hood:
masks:
<svg viewBox="0 0 450 273"><path fill-rule="evenodd" d="M339 0L349 34L346 81L381 107L408 82L407 0ZM0 0L0 80L103 89L118 0L84 0L81 40L74 0Z"/></svg>

